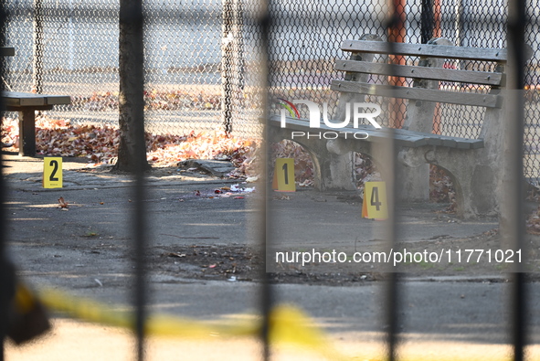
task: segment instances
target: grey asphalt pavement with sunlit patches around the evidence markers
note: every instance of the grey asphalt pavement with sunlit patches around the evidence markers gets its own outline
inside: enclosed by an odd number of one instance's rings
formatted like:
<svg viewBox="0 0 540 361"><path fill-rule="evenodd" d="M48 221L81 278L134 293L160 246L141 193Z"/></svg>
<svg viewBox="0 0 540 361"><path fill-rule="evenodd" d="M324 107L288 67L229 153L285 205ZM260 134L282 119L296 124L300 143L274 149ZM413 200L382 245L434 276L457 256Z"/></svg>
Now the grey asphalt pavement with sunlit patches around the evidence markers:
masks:
<svg viewBox="0 0 540 361"><path fill-rule="evenodd" d="M36 285L48 284L107 304L128 305L132 294L130 177L80 173L77 172L80 163L65 162L64 188L45 190L40 186L41 160L7 158L10 249L21 274ZM145 207L152 246L158 249L179 243L204 242L217 247L233 243L257 244L260 203L256 193L243 199L209 197L214 189L237 183L180 172L151 177ZM204 196L195 196L196 190ZM68 211L58 208L59 196L70 204ZM346 195L345 199L343 196L299 191L290 200L272 202L275 212L272 212L271 223L278 225L275 244L284 247L286 243L302 242L302 247L328 247L331 239L333 247L345 248L351 247L355 239L376 238L375 223L360 218L358 205L347 202ZM435 214L430 207L417 206L404 209L401 220L403 238L409 242L449 235L469 237L495 226L492 219L461 223L450 216ZM149 279L152 309L157 312L206 320L257 313L259 285L256 282L197 281L171 272L155 272ZM274 291L276 302L298 304L311 314L345 354L364 355L359 350L377 349L382 345L381 336L386 329L383 285L383 282L365 282L355 287L281 284L275 286ZM421 355L429 347L418 345L429 344L433 350L429 352L433 352L431 355L435 358L449 356L450 350L457 352L454 355L463 355L463 350L470 348L470 355L479 356L477 359L492 359L492 355L506 350L508 283L420 278L405 282L403 290L400 327L411 352ZM529 297L530 341L538 344L540 284L530 284ZM91 335L88 345L79 345L77 350L86 347L91 351L90 345L100 348L110 340L115 340L124 352L128 345L109 328L95 329L58 320L62 325L58 329L62 343L76 342L65 330ZM178 352L170 359L236 360L253 359L258 350L257 345L249 341L239 344L218 341L214 345L222 351L216 352L200 343L159 344L160 351L153 355L164 355L166 350L180 345L185 352ZM73 347L66 344L59 347L50 340L46 344L37 344L41 349L37 345L23 351L10 349L7 359L34 360L37 356L73 359L69 356L73 355ZM58 351L62 347L65 350ZM238 357L232 356L235 349L242 350ZM62 358L58 352L66 352L66 356ZM112 354L123 359L125 355L118 352ZM203 356L204 352L210 352L211 356ZM540 357L538 348L535 353ZM283 357L301 359L297 355Z"/></svg>

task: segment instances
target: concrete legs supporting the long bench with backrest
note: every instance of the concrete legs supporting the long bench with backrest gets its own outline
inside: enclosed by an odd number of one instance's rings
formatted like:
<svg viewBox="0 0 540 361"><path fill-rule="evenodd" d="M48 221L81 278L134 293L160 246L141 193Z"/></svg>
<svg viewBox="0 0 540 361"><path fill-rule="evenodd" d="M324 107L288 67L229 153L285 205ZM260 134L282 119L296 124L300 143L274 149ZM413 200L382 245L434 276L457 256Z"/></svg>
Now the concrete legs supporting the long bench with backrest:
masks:
<svg viewBox="0 0 540 361"><path fill-rule="evenodd" d="M487 122L490 122L489 117ZM492 126L484 127L486 128L490 131L485 135L492 139L492 142L487 143L483 148L458 149L435 145L398 146L396 179L399 200L426 200L429 196L429 164L438 165L450 175L456 190L459 217L496 216L500 204L497 198L497 195L500 195L498 187L501 179L498 167L500 153L497 151L500 146L500 134L497 134L500 131L500 124L492 122ZM292 139L291 129L271 126L270 142L277 143L283 139L301 144L312 156L314 186L317 189L354 190L356 188L353 152L369 156L383 179L389 179L390 172L386 168L384 159L392 154L385 154L386 143L370 143L343 138Z"/></svg>

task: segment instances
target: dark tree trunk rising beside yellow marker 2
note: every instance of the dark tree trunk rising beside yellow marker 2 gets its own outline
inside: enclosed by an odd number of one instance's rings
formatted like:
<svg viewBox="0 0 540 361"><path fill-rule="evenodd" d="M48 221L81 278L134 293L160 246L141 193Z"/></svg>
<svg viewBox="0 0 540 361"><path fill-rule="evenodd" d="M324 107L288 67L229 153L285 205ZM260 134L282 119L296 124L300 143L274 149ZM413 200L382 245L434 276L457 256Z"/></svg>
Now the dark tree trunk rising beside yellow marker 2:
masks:
<svg viewBox="0 0 540 361"><path fill-rule="evenodd" d="M120 145L115 169L148 169L144 142L143 5L120 1Z"/></svg>

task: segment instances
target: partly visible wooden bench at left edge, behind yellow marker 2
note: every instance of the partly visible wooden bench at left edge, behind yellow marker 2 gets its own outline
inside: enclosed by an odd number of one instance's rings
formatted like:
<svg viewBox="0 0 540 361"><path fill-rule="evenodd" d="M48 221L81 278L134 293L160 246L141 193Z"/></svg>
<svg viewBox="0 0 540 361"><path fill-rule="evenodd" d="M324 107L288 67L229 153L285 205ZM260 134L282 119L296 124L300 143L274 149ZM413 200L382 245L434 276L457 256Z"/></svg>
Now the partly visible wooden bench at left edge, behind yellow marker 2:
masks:
<svg viewBox="0 0 540 361"><path fill-rule="evenodd" d="M6 111L19 113L19 154L36 155L36 111L49 111L55 105L69 104L68 95L34 94L4 91Z"/></svg>

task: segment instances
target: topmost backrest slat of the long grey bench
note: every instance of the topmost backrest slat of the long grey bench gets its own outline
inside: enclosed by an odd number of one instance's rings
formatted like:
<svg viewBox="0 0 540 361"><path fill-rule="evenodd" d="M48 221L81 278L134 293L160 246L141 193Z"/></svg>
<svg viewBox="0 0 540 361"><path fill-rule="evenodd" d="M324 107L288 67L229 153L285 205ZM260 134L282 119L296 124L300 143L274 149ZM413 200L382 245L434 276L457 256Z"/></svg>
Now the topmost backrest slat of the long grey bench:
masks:
<svg viewBox="0 0 540 361"><path fill-rule="evenodd" d="M389 54L388 44L383 41L345 40L341 48L344 51ZM395 55L409 55L413 57L457 58L482 61L507 60L506 49L497 48L394 43L393 52Z"/></svg>

